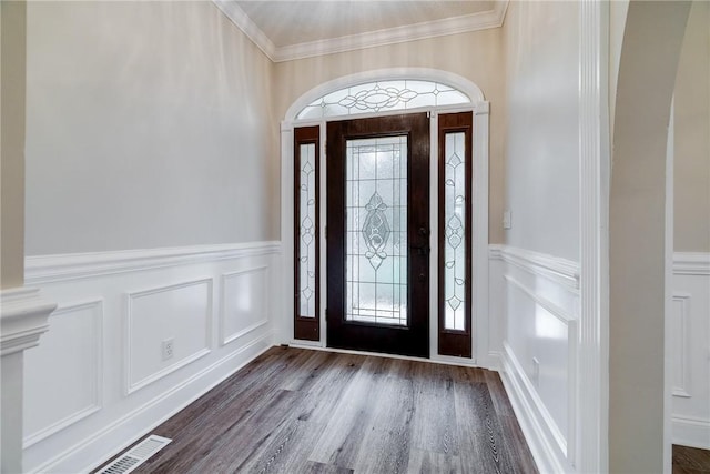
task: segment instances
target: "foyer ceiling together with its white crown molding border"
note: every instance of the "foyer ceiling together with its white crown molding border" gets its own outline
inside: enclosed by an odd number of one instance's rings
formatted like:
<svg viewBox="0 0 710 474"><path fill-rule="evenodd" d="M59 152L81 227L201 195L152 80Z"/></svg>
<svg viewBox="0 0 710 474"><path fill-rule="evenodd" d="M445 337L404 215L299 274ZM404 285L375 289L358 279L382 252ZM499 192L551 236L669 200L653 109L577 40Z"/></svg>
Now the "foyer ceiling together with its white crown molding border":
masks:
<svg viewBox="0 0 710 474"><path fill-rule="evenodd" d="M496 28L507 0L213 0L272 60Z"/></svg>

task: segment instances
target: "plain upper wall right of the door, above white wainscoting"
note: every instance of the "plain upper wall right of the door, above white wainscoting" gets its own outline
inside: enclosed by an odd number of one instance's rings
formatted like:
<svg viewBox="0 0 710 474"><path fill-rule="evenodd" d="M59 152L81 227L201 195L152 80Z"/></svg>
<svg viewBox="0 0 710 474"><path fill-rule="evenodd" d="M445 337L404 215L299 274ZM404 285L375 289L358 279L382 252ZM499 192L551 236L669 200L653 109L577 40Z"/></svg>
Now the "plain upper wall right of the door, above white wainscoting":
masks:
<svg viewBox="0 0 710 474"><path fill-rule="evenodd" d="M579 261L579 7L511 2L506 40L506 243Z"/></svg>

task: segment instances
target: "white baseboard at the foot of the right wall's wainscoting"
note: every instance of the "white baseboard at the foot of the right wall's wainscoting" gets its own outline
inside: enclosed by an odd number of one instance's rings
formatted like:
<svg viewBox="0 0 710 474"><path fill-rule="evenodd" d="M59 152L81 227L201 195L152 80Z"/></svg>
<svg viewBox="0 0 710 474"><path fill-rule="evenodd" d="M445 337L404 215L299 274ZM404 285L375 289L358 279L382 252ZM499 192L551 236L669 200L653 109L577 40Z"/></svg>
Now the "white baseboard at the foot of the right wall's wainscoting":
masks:
<svg viewBox="0 0 710 474"><path fill-rule="evenodd" d="M554 435L554 424L550 426L550 415L539 401L525 373L509 346L505 346L501 359L500 379L510 399L510 404L518 418L530 453L540 473L575 472L567 463L565 453L560 450L560 442ZM559 437L559 436L557 436Z"/></svg>

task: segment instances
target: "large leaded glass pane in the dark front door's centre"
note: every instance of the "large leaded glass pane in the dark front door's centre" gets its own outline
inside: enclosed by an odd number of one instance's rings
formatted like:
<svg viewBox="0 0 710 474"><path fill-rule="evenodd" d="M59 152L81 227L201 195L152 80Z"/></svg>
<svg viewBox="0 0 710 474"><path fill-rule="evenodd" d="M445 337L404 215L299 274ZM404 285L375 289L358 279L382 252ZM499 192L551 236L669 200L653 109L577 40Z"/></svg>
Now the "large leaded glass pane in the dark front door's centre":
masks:
<svg viewBox="0 0 710 474"><path fill-rule="evenodd" d="M348 140L347 321L407 325L407 138Z"/></svg>

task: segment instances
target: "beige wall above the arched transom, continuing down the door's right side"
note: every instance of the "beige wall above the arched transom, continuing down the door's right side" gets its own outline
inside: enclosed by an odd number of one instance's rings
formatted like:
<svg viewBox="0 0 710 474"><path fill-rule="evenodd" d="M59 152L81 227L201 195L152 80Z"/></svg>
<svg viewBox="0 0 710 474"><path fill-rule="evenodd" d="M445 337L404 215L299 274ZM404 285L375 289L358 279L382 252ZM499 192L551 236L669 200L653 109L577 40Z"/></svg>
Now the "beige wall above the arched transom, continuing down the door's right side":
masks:
<svg viewBox="0 0 710 474"><path fill-rule="evenodd" d="M503 142L505 102L501 29L412 41L359 51L328 54L275 65L274 114L308 90L329 80L387 68L432 68L459 74L476 83L490 102L489 238L503 242Z"/></svg>

